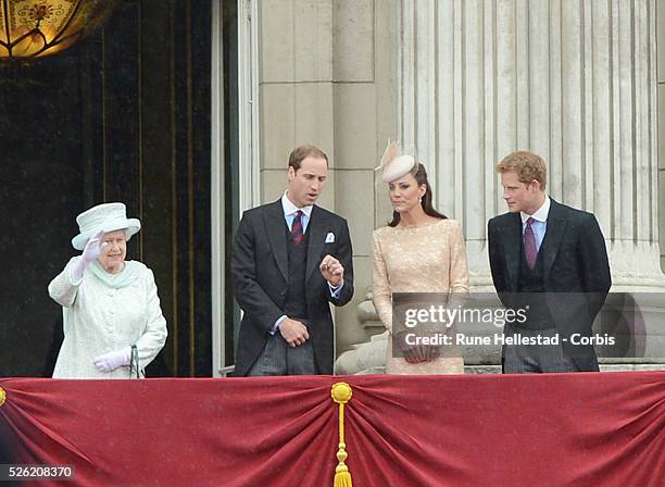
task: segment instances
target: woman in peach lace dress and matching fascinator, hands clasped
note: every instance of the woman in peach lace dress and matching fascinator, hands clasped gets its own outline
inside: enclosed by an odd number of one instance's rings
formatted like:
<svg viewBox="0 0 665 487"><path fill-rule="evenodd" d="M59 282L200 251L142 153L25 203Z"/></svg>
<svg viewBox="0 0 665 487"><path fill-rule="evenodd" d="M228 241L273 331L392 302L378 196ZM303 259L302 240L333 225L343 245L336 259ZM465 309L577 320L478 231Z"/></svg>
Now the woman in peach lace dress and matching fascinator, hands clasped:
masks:
<svg viewBox="0 0 665 487"><path fill-rule="evenodd" d="M396 329L393 335L392 327L393 292L437 292L448 298L449 305L451 299L459 301L468 294L460 223L434 209L425 167L412 155L400 155L397 142L389 143L377 170L388 183L393 208L392 221L373 234L374 307L390 333L386 372L463 374L464 361L454 347L412 347L405 333ZM410 332L422 335L417 327Z"/></svg>

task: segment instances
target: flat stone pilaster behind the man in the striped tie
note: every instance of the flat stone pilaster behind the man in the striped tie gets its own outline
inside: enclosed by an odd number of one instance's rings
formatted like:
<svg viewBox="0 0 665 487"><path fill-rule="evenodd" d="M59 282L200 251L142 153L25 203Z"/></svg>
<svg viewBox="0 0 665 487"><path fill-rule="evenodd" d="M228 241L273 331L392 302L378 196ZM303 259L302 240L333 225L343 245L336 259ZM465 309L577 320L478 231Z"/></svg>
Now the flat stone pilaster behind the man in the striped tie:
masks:
<svg viewBox="0 0 665 487"><path fill-rule="evenodd" d="M335 209L332 1L258 3L261 202L287 185L288 157L302 143L323 149L331 172L319 203Z"/></svg>

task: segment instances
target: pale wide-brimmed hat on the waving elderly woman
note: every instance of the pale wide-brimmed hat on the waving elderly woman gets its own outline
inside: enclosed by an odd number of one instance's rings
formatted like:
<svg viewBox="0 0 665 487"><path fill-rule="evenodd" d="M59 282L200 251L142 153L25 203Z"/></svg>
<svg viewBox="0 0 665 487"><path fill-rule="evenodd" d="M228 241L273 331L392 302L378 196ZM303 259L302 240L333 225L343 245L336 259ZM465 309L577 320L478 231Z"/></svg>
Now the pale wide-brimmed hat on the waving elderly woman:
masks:
<svg viewBox="0 0 665 487"><path fill-rule="evenodd" d="M125 230L127 240L141 229L141 222L137 218L127 218L127 209L124 203L102 203L84 211L76 216L79 234L72 239L76 250L83 250L88 239L99 230Z"/></svg>

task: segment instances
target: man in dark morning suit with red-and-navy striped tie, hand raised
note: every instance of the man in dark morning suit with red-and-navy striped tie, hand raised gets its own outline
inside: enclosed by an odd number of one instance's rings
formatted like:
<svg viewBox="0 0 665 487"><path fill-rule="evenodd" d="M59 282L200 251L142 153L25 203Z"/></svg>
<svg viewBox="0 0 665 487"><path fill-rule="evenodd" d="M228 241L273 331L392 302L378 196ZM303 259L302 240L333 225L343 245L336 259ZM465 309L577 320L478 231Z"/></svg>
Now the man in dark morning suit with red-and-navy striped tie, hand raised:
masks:
<svg viewBox="0 0 665 487"><path fill-rule="evenodd" d="M332 373L329 303L353 297L353 252L347 221L314 204L327 173L321 149L298 147L284 196L240 221L231 260L244 312L236 375Z"/></svg>

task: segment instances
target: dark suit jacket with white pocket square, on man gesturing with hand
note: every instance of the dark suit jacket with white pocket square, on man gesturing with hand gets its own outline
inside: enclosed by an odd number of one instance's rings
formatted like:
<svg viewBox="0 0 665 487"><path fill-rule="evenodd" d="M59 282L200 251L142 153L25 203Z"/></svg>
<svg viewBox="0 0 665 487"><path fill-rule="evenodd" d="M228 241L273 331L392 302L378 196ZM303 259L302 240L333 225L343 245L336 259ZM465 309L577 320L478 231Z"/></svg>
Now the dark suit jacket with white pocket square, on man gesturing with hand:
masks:
<svg viewBox="0 0 665 487"><path fill-rule="evenodd" d="M281 200L248 210L236 232L231 259L234 296L244 315L236 352L236 375L247 372L259 358L268 329L284 314L287 296L288 255ZM334 329L328 302L341 307L353 297L353 261L347 221L314 205L308 224L309 248L305 294L310 314L310 339L321 374L332 373ZM325 244L332 233L335 241ZM318 265L330 254L344 267L339 299L330 297ZM279 332L277 332L279 333Z"/></svg>

